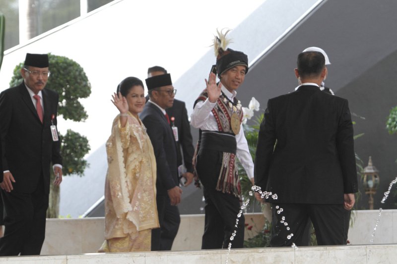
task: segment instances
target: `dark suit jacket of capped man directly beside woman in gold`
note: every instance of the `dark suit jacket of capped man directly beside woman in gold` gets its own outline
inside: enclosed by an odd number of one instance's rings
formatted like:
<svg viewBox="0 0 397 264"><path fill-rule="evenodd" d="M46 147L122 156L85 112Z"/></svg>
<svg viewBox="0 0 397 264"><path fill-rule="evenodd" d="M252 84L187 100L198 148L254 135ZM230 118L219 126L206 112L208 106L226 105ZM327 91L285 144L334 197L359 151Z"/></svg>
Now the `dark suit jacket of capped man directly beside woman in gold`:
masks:
<svg viewBox="0 0 397 264"><path fill-rule="evenodd" d="M177 152L174 134L163 112L152 103L146 103L139 115L153 145L157 164L157 194L179 186Z"/></svg>

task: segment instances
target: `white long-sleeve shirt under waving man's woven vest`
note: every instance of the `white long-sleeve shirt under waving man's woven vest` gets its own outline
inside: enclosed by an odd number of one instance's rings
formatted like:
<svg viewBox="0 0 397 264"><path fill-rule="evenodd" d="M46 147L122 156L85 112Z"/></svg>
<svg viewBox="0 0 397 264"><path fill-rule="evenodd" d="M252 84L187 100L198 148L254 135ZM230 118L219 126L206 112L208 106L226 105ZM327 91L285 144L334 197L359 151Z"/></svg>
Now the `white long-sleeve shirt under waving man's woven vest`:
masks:
<svg viewBox="0 0 397 264"><path fill-rule="evenodd" d="M233 91L233 93L229 92L223 85L221 89L222 92L233 102L233 99L236 97L237 93L235 91ZM199 101L190 116L191 124L201 130L219 131L215 117L211 112L215 105L216 103L209 102L208 98L204 102ZM248 149L247 139L244 135L243 124L240 126L240 133L236 135L236 156L243 165L248 177L252 179L254 178L254 162L252 161L252 157Z"/></svg>

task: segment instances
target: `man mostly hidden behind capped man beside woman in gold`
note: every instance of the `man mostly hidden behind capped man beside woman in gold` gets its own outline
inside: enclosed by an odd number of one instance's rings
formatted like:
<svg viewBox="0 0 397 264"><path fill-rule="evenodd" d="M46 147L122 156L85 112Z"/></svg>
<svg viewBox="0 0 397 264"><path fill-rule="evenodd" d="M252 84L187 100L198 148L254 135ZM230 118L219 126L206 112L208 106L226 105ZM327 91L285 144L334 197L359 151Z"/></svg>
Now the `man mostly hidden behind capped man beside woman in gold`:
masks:
<svg viewBox="0 0 397 264"><path fill-rule="evenodd" d="M153 66L147 69L148 78L166 73L167 70L161 66ZM174 104L165 109L165 111L170 117L171 127L173 132L175 131L174 135L176 134L178 167L181 167L182 164L186 167L186 172L180 175L180 177L186 178L185 186L188 186L194 178L192 158L195 153L188 111L186 110L185 102L177 99L174 99Z"/></svg>

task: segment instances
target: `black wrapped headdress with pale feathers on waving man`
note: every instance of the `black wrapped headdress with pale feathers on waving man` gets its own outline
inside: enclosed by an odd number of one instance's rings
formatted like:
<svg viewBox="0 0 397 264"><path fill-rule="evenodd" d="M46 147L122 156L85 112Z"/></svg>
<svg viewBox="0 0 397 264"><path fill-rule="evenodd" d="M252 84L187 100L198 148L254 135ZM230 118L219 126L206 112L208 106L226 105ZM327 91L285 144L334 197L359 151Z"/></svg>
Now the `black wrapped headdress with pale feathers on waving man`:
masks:
<svg viewBox="0 0 397 264"><path fill-rule="evenodd" d="M226 34L230 30L227 30L224 34L216 30L218 36L214 39L214 48L216 56L216 71L218 77L221 76L225 71L233 68L237 65L243 65L248 72L248 56L243 52L234 51L232 49L226 49L226 46L230 43L230 40L226 38Z"/></svg>

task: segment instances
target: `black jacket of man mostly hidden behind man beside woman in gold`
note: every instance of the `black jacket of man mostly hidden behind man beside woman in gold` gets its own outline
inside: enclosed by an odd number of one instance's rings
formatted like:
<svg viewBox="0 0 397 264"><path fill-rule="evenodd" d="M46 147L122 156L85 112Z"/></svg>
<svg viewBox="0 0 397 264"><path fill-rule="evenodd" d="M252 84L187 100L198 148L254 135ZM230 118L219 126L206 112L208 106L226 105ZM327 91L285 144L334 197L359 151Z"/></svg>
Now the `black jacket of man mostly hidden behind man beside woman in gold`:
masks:
<svg viewBox="0 0 397 264"><path fill-rule="evenodd" d="M182 164L182 155L180 151L182 147L186 169L193 173L192 158L195 149L193 147L192 133L190 131L188 111L186 110L185 102L174 99L174 105L167 108L165 111L170 118L175 118L174 125L178 128L178 141L176 142L178 166Z"/></svg>

